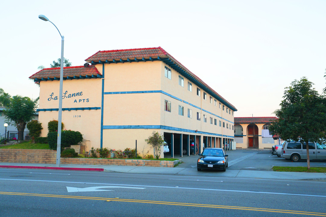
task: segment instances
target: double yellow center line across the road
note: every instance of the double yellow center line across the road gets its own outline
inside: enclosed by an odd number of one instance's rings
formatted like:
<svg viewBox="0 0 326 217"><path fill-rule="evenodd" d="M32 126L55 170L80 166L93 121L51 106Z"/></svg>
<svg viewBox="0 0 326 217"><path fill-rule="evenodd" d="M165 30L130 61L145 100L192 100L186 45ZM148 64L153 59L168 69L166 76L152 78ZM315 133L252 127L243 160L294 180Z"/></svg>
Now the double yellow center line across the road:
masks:
<svg viewBox="0 0 326 217"><path fill-rule="evenodd" d="M290 213L301 215L315 215L326 216L326 213L321 212L307 212L297 210L277 210L268 208L255 208L255 207L238 207L238 206L224 206L212 204L196 204L196 203L179 203L179 202L166 202L166 201L152 201L152 200L135 200L135 199L121 199L121 198L105 198L105 197L82 197L82 196L69 196L69 195L47 195L47 194L32 194L32 193L16 193L16 192L0 192L2 195L20 195L20 196L35 196L35 197L57 197L57 198L71 198L71 199L90 199L90 200L105 200L107 202L133 202L133 203L150 203L162 205L175 205L175 206L192 206L192 207L206 207L230 210L249 210L249 211L263 211L263 212L277 212L277 213Z"/></svg>

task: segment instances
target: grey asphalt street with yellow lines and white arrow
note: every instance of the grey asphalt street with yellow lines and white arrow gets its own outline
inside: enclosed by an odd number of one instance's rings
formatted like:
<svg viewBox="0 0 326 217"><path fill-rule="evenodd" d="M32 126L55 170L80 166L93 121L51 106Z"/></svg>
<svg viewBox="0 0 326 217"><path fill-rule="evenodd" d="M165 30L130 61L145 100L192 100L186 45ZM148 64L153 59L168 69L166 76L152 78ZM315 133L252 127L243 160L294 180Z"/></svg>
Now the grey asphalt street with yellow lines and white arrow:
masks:
<svg viewBox="0 0 326 217"><path fill-rule="evenodd" d="M314 181L0 169L0 216L326 216L325 189Z"/></svg>

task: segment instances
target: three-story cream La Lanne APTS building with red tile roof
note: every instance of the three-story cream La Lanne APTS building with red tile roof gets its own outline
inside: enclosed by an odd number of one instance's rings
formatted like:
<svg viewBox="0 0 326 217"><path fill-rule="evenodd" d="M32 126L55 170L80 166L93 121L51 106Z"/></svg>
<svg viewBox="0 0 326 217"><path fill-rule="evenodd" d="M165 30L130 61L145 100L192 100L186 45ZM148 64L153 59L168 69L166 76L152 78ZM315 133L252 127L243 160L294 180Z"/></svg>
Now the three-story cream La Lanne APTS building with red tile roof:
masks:
<svg viewBox="0 0 326 217"><path fill-rule="evenodd" d="M203 146L233 144L237 109L161 47L98 51L84 66L65 67L62 122L91 147L134 148L154 154L145 142L164 135L171 157ZM39 121L58 118L60 68L30 76L40 84ZM163 151L161 153L163 157Z"/></svg>

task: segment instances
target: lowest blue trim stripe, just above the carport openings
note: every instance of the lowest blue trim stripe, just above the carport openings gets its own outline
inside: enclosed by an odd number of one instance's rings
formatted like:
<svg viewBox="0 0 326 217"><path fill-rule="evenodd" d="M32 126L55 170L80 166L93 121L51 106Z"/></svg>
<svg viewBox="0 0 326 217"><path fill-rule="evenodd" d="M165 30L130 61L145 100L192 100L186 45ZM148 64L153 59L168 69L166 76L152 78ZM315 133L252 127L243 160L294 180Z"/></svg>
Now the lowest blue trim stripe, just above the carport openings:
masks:
<svg viewBox="0 0 326 217"><path fill-rule="evenodd" d="M209 132L203 132L203 131L196 132L196 130L169 127L169 126L164 126L164 125L104 125L103 129L167 129L167 130L188 132L188 133L194 133L194 134L222 136L222 134L217 134L217 133L209 133ZM224 137L234 138L233 136L225 136L225 135L224 135Z"/></svg>

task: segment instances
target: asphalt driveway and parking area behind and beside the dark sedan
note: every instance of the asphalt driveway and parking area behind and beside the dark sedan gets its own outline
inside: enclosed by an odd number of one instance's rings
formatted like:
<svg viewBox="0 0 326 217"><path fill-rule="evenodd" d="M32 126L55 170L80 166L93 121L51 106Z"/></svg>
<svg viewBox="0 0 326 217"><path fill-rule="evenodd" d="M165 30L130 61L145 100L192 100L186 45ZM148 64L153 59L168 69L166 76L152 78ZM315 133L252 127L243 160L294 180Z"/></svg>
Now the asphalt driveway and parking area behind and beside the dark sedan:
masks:
<svg viewBox="0 0 326 217"><path fill-rule="evenodd" d="M292 166L292 167L306 167L307 161L291 162L282 157L271 155L271 150L257 150L257 149L237 149L226 152L229 155L229 167L227 170L260 170L272 171L273 166ZM197 168L196 156L184 156L175 158L181 159L181 168ZM326 167L326 161L310 160L310 167Z"/></svg>

